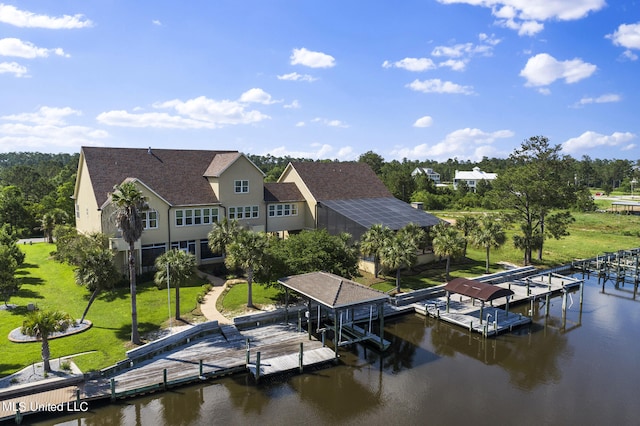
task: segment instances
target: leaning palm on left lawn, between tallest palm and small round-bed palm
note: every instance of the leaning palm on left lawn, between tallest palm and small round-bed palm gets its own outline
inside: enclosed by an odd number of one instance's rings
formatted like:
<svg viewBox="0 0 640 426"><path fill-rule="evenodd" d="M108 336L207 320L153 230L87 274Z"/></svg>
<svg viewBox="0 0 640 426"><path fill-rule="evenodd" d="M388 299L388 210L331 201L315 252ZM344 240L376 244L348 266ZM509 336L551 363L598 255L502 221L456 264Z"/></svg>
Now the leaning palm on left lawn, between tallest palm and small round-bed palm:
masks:
<svg viewBox="0 0 640 426"><path fill-rule="evenodd" d="M77 284L87 286L92 292L89 303L80 318L80 324L82 324L96 296L103 290L112 289L120 279L113 264L113 252L104 248L89 251L75 269L74 275Z"/></svg>

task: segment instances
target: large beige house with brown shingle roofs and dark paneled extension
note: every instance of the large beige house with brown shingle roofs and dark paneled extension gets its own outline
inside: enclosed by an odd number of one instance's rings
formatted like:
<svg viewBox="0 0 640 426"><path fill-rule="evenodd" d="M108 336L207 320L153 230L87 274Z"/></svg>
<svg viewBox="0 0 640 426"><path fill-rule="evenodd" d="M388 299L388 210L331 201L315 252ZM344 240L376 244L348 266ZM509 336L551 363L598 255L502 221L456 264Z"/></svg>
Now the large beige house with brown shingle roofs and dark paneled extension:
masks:
<svg viewBox="0 0 640 426"><path fill-rule="evenodd" d="M128 244L113 221L110 193L133 182L147 198L144 231L135 249L141 270L179 248L198 263L220 262L207 235L224 217L254 231L286 237L304 229L349 232L359 239L381 223L437 224L436 217L396 199L364 163L290 163L276 183L238 151L83 147L74 191L79 232L103 232L126 270Z"/></svg>

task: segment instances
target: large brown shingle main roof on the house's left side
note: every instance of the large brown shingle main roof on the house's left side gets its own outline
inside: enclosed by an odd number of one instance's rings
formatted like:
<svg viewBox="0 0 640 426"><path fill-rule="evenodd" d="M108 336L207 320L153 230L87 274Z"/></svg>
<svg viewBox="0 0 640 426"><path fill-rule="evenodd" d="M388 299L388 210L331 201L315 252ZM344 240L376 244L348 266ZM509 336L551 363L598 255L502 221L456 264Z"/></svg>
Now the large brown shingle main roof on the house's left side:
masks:
<svg viewBox="0 0 640 426"><path fill-rule="evenodd" d="M83 147L87 169L98 206L113 192L113 186L136 178L171 205L218 202L204 177L218 155L228 158L236 151L203 151L146 148Z"/></svg>

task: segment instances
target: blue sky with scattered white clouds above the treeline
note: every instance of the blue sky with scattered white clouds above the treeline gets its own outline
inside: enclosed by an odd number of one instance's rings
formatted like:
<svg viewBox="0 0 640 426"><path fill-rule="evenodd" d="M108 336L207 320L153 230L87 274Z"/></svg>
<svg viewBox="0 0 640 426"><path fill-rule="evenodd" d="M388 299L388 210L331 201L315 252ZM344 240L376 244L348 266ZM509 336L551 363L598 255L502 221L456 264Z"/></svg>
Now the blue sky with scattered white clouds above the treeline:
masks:
<svg viewBox="0 0 640 426"><path fill-rule="evenodd" d="M0 0L0 152L640 158L640 2Z"/></svg>

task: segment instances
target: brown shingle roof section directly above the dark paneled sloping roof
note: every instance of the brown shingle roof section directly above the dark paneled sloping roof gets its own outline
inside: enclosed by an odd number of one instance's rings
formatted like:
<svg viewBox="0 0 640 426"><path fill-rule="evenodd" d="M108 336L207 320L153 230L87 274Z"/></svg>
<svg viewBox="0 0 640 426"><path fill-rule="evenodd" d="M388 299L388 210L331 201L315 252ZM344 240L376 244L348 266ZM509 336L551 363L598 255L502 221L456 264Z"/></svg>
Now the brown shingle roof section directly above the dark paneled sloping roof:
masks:
<svg viewBox="0 0 640 426"><path fill-rule="evenodd" d="M318 201L393 197L366 163L296 162L291 166Z"/></svg>

